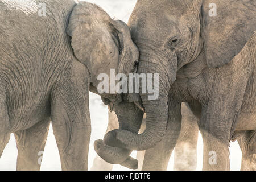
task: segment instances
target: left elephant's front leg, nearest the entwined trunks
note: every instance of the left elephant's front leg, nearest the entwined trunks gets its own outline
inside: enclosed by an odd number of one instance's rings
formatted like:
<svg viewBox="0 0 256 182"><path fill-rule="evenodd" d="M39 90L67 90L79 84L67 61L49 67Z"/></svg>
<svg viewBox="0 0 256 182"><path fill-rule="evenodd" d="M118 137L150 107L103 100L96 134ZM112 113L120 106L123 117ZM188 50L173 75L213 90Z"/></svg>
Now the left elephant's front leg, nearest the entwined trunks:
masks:
<svg viewBox="0 0 256 182"><path fill-rule="evenodd" d="M52 129L59 148L61 168L87 170L91 127L89 105L85 103L89 98L86 101L72 88L67 90L66 96L59 97L61 94L56 93L52 101Z"/></svg>

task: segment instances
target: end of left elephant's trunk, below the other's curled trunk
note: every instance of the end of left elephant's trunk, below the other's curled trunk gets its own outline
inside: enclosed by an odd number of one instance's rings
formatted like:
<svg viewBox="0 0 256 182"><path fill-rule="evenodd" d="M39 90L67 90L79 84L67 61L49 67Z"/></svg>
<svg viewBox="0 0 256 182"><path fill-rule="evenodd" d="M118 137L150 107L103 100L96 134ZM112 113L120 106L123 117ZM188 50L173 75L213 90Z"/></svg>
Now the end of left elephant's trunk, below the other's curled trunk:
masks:
<svg viewBox="0 0 256 182"><path fill-rule="evenodd" d="M138 160L129 156L130 150L108 146L101 139L94 142L94 150L98 156L110 164L120 164L133 170L138 168Z"/></svg>

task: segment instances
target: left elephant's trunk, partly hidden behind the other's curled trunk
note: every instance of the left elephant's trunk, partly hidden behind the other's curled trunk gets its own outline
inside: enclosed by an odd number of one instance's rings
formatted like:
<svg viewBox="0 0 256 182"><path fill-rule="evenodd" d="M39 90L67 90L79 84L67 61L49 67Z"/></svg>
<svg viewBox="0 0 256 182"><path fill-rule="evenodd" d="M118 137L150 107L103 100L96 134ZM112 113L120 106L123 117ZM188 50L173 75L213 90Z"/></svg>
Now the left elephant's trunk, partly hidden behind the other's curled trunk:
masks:
<svg viewBox="0 0 256 182"><path fill-rule="evenodd" d="M129 130L133 133L138 133L144 114L141 109L139 109L133 102L122 101L121 103L114 105L114 111L118 117L119 130ZM137 160L129 156L132 152L131 150L113 146L112 131L105 135L104 141L96 140L94 142L94 149L97 154L108 163L121 164L130 169L137 169Z"/></svg>

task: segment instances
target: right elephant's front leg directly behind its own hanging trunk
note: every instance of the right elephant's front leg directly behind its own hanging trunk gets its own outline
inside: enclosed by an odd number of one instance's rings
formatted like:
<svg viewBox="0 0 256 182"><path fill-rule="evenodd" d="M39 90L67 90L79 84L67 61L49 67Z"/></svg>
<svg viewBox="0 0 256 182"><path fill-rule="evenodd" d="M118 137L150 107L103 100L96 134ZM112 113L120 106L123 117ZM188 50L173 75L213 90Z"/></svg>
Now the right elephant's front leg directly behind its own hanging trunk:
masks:
<svg viewBox="0 0 256 182"><path fill-rule="evenodd" d="M143 171L164 171L167 170L172 150L177 143L181 129L181 102L169 98L168 124L162 141L155 147L146 150Z"/></svg>

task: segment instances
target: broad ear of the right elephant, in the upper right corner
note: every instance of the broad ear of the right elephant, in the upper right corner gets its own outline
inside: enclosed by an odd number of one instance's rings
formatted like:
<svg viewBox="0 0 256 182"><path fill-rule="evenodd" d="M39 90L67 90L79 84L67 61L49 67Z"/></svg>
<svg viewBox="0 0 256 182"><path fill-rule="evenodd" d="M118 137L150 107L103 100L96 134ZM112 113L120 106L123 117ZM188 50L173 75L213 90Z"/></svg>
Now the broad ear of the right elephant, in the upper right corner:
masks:
<svg viewBox="0 0 256 182"><path fill-rule="evenodd" d="M229 63L254 34L256 6L253 0L204 0L201 36L211 68Z"/></svg>

